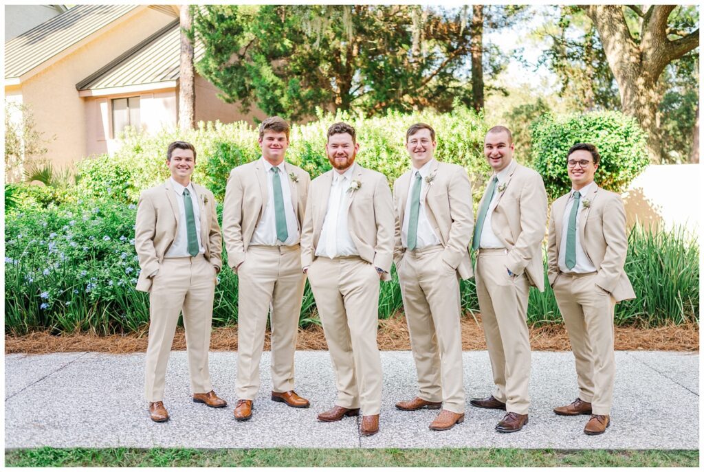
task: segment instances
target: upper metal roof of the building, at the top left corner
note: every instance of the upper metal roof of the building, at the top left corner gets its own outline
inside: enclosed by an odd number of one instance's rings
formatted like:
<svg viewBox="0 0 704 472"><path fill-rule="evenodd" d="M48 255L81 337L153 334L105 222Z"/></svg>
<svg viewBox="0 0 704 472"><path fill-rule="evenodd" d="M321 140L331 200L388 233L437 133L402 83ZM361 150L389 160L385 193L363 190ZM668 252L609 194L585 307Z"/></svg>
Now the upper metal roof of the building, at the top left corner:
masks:
<svg viewBox="0 0 704 472"><path fill-rule="evenodd" d="M139 5L77 5L5 44L5 78L21 77Z"/></svg>

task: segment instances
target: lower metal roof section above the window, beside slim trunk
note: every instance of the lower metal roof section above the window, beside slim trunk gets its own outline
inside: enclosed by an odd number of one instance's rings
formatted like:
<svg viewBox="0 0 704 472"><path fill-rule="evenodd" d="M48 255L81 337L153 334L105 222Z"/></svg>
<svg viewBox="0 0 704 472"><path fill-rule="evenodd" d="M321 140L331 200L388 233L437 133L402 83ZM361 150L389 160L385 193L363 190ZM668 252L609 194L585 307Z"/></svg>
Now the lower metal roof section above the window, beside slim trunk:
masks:
<svg viewBox="0 0 704 472"><path fill-rule="evenodd" d="M174 85L179 77L181 31L179 21L166 25L142 43L76 84L79 91L98 91L115 87L147 84ZM194 61L203 56L196 42Z"/></svg>

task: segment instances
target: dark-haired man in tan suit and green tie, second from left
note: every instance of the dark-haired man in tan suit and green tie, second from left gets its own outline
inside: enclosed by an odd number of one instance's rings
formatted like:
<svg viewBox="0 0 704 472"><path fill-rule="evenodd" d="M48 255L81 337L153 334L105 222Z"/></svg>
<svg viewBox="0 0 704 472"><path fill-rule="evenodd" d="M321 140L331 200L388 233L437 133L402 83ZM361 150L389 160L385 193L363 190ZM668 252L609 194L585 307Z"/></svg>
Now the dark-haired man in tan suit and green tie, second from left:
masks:
<svg viewBox="0 0 704 472"><path fill-rule="evenodd" d="M306 276L301 272L301 222L308 172L284 160L289 124L279 117L259 127L262 157L232 170L222 209L227 261L239 278L237 407L252 416L259 390L259 361L271 312L271 399L308 408L294 392L294 352Z"/></svg>

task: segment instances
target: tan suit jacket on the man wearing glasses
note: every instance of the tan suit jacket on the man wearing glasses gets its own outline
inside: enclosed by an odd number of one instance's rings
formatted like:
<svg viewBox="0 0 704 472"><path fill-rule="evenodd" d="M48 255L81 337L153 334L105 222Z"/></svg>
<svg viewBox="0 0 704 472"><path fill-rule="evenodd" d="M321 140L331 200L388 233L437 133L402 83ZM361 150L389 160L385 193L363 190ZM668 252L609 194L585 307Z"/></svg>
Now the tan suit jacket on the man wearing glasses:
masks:
<svg viewBox="0 0 704 472"><path fill-rule="evenodd" d="M562 217L570 193L566 193L553 202L548 232L548 280L553 286L560 274L558 265L560 241L562 241ZM591 195L582 199L589 200L588 208L579 210L579 241L591 263L596 267L595 283L610 292L620 302L636 298L623 267L628 251L626 236L626 212L623 200L616 193L595 186Z"/></svg>

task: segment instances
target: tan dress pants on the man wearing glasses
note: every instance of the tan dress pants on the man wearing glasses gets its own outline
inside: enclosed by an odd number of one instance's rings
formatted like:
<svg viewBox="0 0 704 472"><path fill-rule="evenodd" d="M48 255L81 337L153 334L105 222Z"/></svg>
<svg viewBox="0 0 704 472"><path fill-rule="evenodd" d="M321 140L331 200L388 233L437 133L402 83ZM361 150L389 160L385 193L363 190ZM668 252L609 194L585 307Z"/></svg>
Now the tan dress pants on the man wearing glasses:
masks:
<svg viewBox="0 0 704 472"><path fill-rule="evenodd" d="M614 309L610 293L596 286L596 273L560 274L555 300L570 336L577 368L579 398L591 403L593 414L608 415L614 390Z"/></svg>

